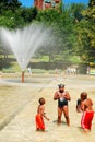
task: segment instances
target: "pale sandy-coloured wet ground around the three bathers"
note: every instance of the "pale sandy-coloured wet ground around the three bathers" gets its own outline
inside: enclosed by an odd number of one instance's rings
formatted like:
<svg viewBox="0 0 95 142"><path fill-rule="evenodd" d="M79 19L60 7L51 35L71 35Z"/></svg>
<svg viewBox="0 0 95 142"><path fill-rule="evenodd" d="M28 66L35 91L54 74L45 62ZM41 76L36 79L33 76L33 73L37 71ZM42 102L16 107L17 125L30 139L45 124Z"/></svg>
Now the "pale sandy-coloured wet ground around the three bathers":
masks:
<svg viewBox="0 0 95 142"><path fill-rule="evenodd" d="M92 131L84 133L80 129L82 114L75 105L80 93L85 91L93 99L95 110L94 75L47 75L33 76L35 83L12 83L0 80L0 142L95 142L95 117ZM52 99L58 84L66 84L71 95L69 102L70 127L57 125L57 102ZM35 131L35 115L39 97L46 98L46 132Z"/></svg>

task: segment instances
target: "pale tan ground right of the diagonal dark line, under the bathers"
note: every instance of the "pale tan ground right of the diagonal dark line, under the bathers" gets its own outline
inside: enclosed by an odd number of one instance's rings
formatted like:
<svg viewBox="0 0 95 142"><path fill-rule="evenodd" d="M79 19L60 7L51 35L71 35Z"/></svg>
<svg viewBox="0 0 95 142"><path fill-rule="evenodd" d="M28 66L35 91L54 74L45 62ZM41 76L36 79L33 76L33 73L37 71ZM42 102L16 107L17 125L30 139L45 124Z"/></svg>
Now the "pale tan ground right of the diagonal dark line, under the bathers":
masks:
<svg viewBox="0 0 95 142"><path fill-rule="evenodd" d="M54 93L59 83L64 82L66 90L71 94L72 100L69 103L71 126L68 127L62 117L62 123L58 126L57 102L54 102ZM26 91L25 91L26 88ZM32 86L24 86L24 93L31 91ZM95 103L95 79L92 76L58 76L54 78L41 92L33 94L34 97L23 107L21 111L0 131L0 142L95 142L95 118L92 131L87 134L80 130L81 114L75 111L75 103L81 91L87 91L90 97ZM35 131L35 115L39 97L46 98L46 113L50 121L46 121L46 132ZM94 105L95 109L95 105Z"/></svg>

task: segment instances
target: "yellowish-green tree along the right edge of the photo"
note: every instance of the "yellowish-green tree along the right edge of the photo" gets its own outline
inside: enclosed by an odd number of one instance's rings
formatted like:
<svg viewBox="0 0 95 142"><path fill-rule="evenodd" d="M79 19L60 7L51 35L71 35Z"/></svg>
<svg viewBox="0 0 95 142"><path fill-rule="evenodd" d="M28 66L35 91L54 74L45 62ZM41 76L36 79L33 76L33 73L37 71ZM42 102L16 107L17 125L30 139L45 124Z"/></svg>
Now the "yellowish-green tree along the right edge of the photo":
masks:
<svg viewBox="0 0 95 142"><path fill-rule="evenodd" d="M85 62L95 61L95 1L90 0L88 7L82 12L78 23L79 54ZM84 51L83 51L84 50Z"/></svg>

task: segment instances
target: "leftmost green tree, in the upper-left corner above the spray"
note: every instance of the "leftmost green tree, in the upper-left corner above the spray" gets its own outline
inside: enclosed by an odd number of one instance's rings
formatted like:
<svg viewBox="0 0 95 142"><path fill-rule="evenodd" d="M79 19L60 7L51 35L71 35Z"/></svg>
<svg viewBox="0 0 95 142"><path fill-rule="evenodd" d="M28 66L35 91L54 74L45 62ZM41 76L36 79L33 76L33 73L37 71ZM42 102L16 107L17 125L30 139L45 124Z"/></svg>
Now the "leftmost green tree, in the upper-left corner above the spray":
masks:
<svg viewBox="0 0 95 142"><path fill-rule="evenodd" d="M0 25L8 28L15 28L23 25L21 17L21 2L19 0L0 1Z"/></svg>

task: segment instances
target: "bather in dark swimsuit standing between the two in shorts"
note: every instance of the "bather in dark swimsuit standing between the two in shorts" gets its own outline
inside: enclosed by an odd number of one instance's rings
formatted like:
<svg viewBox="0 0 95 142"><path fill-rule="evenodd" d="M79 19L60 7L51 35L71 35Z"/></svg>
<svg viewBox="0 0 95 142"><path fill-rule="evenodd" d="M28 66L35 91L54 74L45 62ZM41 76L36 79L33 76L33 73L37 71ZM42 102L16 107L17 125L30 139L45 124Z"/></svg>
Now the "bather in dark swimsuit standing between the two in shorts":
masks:
<svg viewBox="0 0 95 142"><path fill-rule="evenodd" d="M71 100L69 92L64 91L64 85L59 84L59 90L55 92L54 100L58 100L58 123L61 123L62 113L67 125L70 126L68 100Z"/></svg>

